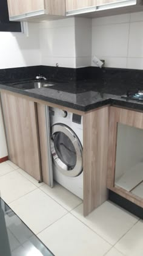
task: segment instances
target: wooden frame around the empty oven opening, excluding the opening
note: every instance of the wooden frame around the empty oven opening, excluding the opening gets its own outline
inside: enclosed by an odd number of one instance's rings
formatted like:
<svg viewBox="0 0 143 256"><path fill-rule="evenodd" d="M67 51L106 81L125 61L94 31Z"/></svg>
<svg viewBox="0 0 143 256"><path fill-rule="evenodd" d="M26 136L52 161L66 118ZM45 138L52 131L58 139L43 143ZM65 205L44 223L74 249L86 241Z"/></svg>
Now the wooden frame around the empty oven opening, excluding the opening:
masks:
<svg viewBox="0 0 143 256"><path fill-rule="evenodd" d="M129 127L143 129L143 113L124 108L110 107L107 188L139 205L140 207L143 207L143 199L141 199L141 197L138 197L130 191L115 185L118 123L127 125Z"/></svg>

